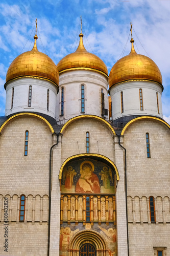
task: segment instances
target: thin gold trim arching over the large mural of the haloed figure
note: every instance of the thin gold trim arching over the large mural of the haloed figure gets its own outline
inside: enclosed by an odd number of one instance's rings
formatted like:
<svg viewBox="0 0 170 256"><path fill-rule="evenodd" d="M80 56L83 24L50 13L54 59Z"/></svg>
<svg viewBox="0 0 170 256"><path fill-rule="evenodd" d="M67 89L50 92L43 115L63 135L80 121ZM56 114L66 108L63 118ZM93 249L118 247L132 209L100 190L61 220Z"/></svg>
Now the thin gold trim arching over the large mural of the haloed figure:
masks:
<svg viewBox="0 0 170 256"><path fill-rule="evenodd" d="M105 159L107 162L109 162L114 170L115 170L115 173L116 173L116 180L118 181L119 180L119 174L118 174L118 170L117 170L117 167L116 165L107 157L103 156L103 155L99 155L99 154L90 154L90 153L84 153L84 154L78 154L78 155L74 155L74 156L71 156L71 157L68 157L64 162L63 164L61 165L61 168L60 168L60 173L59 173L59 180L62 179L62 172L63 172L63 168L64 166L70 161L70 160L73 160L73 159L76 159L76 158L80 158L80 157L98 157L98 158L101 158L101 159Z"/></svg>

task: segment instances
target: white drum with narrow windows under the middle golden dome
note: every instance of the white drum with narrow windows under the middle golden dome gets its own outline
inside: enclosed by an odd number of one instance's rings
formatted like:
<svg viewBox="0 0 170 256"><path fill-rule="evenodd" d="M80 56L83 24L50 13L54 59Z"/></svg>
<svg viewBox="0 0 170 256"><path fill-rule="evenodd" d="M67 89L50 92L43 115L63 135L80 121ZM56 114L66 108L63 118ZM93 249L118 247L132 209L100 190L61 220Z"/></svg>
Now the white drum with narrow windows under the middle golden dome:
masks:
<svg viewBox="0 0 170 256"><path fill-rule="evenodd" d="M85 114L101 116L101 89L105 94L105 109L108 109L108 79L98 72L76 70L60 74L60 93L57 95L56 119L64 123L81 115L81 85L85 91ZM61 89L64 88L64 115L61 116ZM109 112L107 118L109 117ZM63 120L63 121L62 121Z"/></svg>

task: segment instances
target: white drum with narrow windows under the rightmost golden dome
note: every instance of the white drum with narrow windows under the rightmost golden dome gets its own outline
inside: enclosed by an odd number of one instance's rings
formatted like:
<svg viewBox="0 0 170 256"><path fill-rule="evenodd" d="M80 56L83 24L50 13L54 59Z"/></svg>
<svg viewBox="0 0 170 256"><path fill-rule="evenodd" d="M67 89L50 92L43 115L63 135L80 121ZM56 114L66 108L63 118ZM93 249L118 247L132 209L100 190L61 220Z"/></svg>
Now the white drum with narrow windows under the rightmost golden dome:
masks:
<svg viewBox="0 0 170 256"><path fill-rule="evenodd" d="M142 89L143 110L140 110L139 89ZM124 112L122 113L120 92L123 92ZM159 113L157 109L157 96L159 102ZM161 103L162 88L159 84L146 81L130 81L114 86L110 90L112 98L113 120L127 115L154 115L162 116Z"/></svg>

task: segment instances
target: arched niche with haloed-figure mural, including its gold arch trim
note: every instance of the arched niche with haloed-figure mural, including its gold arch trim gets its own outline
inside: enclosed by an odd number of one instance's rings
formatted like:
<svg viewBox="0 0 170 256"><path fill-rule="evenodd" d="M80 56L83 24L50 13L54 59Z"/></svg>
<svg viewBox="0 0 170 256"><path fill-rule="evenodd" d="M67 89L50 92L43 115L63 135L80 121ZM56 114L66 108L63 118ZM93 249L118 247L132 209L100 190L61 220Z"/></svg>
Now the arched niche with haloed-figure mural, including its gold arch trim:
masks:
<svg viewBox="0 0 170 256"><path fill-rule="evenodd" d="M65 160L59 179L61 193L115 194L119 176L110 159L97 154L80 154Z"/></svg>

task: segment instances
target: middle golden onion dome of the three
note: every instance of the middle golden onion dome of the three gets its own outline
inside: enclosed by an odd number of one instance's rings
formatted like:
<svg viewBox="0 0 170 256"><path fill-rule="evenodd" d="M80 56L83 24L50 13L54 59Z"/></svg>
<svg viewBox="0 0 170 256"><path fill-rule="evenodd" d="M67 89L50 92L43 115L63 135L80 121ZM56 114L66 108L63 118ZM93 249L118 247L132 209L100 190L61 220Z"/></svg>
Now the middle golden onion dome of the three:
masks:
<svg viewBox="0 0 170 256"><path fill-rule="evenodd" d="M108 70L103 60L101 60L98 56L87 52L83 45L83 34L80 33L79 36L80 43L76 52L68 54L59 61L57 65L59 73L68 70L85 69L94 70L107 75Z"/></svg>

